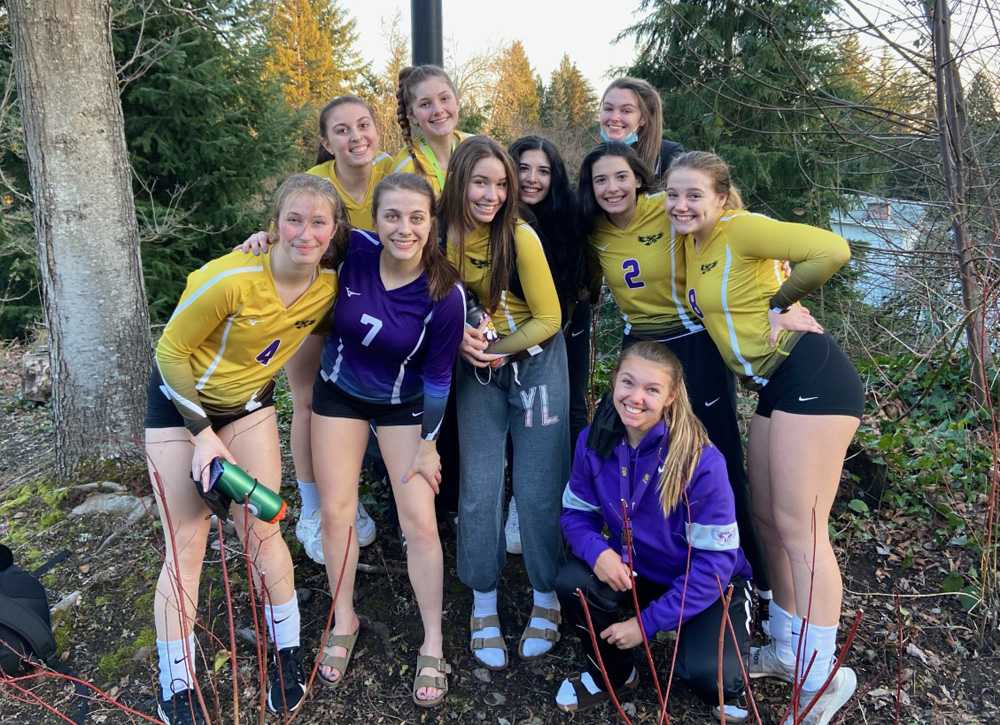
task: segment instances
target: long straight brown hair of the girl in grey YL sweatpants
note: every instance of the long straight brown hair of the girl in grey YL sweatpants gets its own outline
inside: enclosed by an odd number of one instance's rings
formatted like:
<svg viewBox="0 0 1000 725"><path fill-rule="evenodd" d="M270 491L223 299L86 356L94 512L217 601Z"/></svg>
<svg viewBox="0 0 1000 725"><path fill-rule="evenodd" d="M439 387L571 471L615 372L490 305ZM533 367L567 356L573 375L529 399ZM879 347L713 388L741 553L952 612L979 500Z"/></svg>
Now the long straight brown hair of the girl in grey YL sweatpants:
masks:
<svg viewBox="0 0 1000 725"><path fill-rule="evenodd" d="M507 176L507 199L490 222L487 256L490 264L490 291L487 299L481 300L487 310L495 310L500 302L500 293L510 286L514 271L514 228L517 226L517 172L503 146L488 136L473 136L459 144L448 164L439 217L446 234L451 229L460 230L455 244L458 247L458 273L464 280L465 235L479 224L472 216L467 190L473 168L487 158L498 159Z"/></svg>

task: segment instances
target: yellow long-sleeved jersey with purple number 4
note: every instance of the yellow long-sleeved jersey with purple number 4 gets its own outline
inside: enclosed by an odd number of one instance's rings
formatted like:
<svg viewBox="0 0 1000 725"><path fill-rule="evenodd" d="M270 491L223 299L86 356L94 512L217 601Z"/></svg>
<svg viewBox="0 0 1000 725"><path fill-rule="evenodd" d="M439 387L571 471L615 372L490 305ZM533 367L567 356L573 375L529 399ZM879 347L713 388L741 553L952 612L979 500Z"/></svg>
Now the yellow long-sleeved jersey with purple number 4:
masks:
<svg viewBox="0 0 1000 725"><path fill-rule="evenodd" d="M230 252L189 274L156 345L165 392L188 430L207 428L209 415L260 407L274 376L329 312L336 291L336 273L319 269L286 307L270 255Z"/></svg>

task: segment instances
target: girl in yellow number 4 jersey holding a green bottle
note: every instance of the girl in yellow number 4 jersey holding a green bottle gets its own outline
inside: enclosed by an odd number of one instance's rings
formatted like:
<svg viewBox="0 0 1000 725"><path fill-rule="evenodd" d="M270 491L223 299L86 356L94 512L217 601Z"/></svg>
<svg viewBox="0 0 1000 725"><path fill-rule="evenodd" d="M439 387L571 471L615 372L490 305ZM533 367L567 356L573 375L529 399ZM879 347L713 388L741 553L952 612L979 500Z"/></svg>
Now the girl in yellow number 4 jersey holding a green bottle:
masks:
<svg viewBox="0 0 1000 725"><path fill-rule="evenodd" d="M166 535L154 615L159 715L167 723L201 722L191 695L193 624L209 510L194 486L207 487L209 464L218 457L278 490L274 376L328 313L336 292L330 267L348 225L329 182L290 177L278 190L273 226L278 241L270 255L231 252L189 275L156 347L146 455ZM268 706L291 711L305 694L292 561L276 525L245 520L239 506L232 516L258 591L266 592L276 655Z"/></svg>

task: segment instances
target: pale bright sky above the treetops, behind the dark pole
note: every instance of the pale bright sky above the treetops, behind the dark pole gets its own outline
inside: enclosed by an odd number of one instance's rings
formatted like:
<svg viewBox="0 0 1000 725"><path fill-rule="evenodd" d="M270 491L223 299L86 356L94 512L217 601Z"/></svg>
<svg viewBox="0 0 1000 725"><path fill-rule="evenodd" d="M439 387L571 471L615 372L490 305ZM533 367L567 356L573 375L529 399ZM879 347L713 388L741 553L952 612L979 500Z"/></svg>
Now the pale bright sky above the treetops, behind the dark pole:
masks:
<svg viewBox="0 0 1000 725"><path fill-rule="evenodd" d="M345 0L357 19L359 47L366 60L381 69L388 58L382 34L398 11L410 36L409 0ZM614 37L637 18L639 0L619 3L594 0L442 0L444 53L461 62L476 53L500 49L520 40L536 73L548 82L563 53L569 53L596 93L612 76L608 69L627 65L634 55L629 40Z"/></svg>

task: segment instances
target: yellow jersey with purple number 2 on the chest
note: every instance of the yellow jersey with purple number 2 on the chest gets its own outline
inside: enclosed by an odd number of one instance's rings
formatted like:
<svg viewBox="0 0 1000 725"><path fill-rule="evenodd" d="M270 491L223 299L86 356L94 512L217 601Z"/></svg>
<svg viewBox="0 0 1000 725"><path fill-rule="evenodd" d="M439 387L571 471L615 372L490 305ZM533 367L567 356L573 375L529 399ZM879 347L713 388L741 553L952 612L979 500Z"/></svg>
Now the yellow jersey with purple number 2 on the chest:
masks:
<svg viewBox="0 0 1000 725"><path fill-rule="evenodd" d="M684 303L684 244L673 234L664 198L664 192L639 194L626 228L602 214L590 234L594 275L604 275L626 335L667 337L704 329Z"/></svg>

